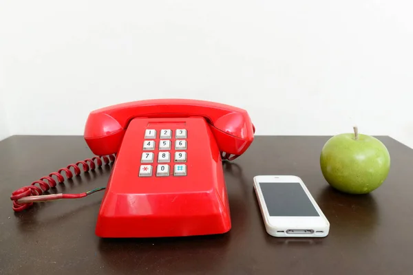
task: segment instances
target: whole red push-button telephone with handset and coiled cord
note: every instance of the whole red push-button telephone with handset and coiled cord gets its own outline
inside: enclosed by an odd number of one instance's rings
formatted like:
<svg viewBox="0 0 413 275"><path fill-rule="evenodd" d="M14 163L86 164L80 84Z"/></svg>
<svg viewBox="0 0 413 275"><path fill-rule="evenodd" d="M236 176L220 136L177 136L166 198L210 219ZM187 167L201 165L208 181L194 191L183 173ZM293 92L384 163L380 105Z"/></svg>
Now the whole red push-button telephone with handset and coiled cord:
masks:
<svg viewBox="0 0 413 275"><path fill-rule="evenodd" d="M96 235L157 237L228 232L231 219L222 159L232 160L244 153L254 133L255 127L243 109L202 100L141 100L92 111L85 126L87 145L96 155L116 154L98 213ZM95 160L102 164L99 157L76 164L83 164L87 170L86 162L94 168ZM76 175L80 173L78 166L71 164L13 192L14 210L23 210L33 201L85 197L96 192L41 195L50 188L45 182L50 185L53 175L59 182L63 181L63 170L72 177L70 168Z"/></svg>

